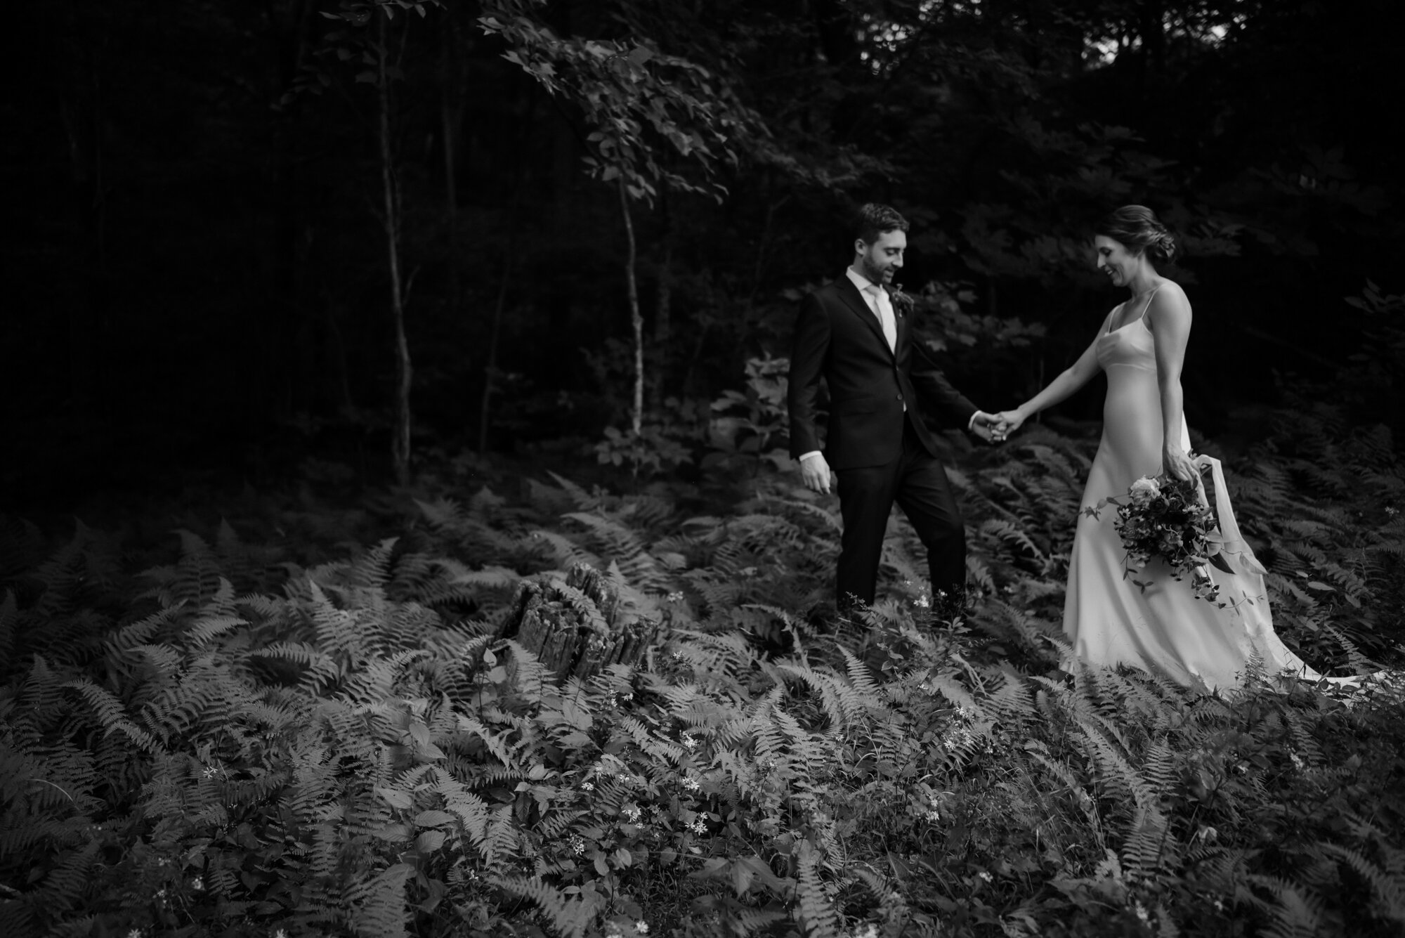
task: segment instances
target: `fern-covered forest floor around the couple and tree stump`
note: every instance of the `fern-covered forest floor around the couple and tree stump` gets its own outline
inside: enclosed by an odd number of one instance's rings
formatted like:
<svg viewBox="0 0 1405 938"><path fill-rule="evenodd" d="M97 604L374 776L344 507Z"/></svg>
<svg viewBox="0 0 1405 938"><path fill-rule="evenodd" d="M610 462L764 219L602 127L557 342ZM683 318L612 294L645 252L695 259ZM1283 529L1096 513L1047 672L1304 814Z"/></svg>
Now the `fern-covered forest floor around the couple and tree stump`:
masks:
<svg viewBox="0 0 1405 938"><path fill-rule="evenodd" d="M4 520L0 931L1399 934L1405 685L1072 657L1093 445L953 442L979 595L951 619L896 518L881 601L826 611L836 504L764 459L620 494L465 456L174 536ZM1281 411L1228 468L1284 639L1398 668L1388 430ZM507 625L576 564L663 638L558 680Z"/></svg>

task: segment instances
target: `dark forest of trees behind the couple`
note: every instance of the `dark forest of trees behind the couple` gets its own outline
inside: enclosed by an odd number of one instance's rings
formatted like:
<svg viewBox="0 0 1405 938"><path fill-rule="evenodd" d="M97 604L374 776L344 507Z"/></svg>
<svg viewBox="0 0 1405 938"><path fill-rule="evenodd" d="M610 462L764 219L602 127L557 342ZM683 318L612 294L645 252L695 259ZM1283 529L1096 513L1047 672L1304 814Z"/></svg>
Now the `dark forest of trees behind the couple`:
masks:
<svg viewBox="0 0 1405 938"><path fill-rule="evenodd" d="M1121 299L1087 247L1118 204L1187 249L1168 272L1213 438L1363 368L1370 316L1343 298L1401 292L1387 0L381 6L11 11L7 501L263 483L309 455L388 476L396 279L416 458L593 462L631 421L622 205L656 427L787 354L863 201L912 219L903 286L968 333L944 361L989 409ZM1399 431L1373 388L1357 416Z"/></svg>

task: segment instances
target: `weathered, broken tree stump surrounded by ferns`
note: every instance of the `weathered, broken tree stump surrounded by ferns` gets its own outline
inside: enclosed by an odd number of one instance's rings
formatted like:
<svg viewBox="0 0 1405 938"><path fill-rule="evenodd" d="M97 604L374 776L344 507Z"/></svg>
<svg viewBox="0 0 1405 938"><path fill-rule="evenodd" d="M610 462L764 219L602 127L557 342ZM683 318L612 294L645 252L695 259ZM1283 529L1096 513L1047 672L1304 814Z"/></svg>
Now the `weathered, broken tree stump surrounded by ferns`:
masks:
<svg viewBox="0 0 1405 938"><path fill-rule="evenodd" d="M624 608L596 569L577 563L565 581L524 581L499 638L516 639L558 681L599 674L610 664L635 664L666 626Z"/></svg>

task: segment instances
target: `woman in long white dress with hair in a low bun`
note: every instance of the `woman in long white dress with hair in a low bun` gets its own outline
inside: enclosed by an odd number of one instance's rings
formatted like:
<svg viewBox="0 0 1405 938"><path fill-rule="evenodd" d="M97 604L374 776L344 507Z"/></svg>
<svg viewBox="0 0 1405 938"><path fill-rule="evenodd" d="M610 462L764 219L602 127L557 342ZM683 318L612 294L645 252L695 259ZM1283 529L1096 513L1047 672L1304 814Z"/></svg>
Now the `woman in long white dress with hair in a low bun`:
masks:
<svg viewBox="0 0 1405 938"><path fill-rule="evenodd" d="M1083 490L1082 506L1107 496L1125 496L1142 476L1196 480L1197 466L1218 462L1193 458L1182 413L1180 369L1190 337L1190 300L1172 279L1156 271L1169 261L1176 243L1156 215L1141 205L1117 209L1099 223L1094 247L1097 270L1128 298L1103 320L1097 337L1079 359L1014 410L996 414L1005 438L1033 414L1057 404L1097 374L1107 372L1103 438ZM1222 479L1215 494L1221 532L1239 541ZM1290 652L1273 630L1263 587L1263 567L1248 545L1229 560L1235 573L1211 570L1229 607L1197 598L1189 580L1176 580L1154 559L1138 580L1124 577L1125 549L1113 528L1116 511L1099 517L1080 513L1068 569L1064 632L1073 650L1099 664L1131 664L1159 671L1186 685L1238 685L1257 659L1264 674L1291 671L1321 675Z"/></svg>

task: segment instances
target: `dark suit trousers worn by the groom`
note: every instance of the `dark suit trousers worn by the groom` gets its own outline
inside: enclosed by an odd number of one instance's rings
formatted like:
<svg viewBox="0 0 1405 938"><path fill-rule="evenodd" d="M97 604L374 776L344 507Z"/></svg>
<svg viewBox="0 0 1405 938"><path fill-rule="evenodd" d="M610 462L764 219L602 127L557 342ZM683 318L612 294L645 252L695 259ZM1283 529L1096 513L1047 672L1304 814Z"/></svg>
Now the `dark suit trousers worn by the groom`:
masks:
<svg viewBox="0 0 1405 938"><path fill-rule="evenodd" d="M884 534L894 501L927 549L933 593L958 597L965 588L965 525L941 462L927 452L903 420L902 455L882 466L835 472L844 532L835 588L839 609L873 604ZM936 598L936 597L933 597Z"/></svg>

